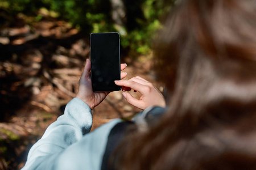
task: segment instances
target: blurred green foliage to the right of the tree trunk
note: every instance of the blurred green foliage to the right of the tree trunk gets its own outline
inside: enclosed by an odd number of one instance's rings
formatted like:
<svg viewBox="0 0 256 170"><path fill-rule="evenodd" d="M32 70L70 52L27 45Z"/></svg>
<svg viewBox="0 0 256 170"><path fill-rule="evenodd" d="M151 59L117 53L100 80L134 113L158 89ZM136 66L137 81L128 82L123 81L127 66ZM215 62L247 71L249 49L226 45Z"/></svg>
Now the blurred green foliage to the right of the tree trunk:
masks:
<svg viewBox="0 0 256 170"><path fill-rule="evenodd" d="M143 1L143 3L141 3L143 17L137 18L136 15L133 16L137 27L131 29L128 35L123 37L123 39L125 39L124 44L137 53L150 53L155 40L156 31L162 28L159 18L170 11L173 3L174 1L170 1L168 4L165 1L159 0ZM129 45L127 45L127 42L129 42Z"/></svg>

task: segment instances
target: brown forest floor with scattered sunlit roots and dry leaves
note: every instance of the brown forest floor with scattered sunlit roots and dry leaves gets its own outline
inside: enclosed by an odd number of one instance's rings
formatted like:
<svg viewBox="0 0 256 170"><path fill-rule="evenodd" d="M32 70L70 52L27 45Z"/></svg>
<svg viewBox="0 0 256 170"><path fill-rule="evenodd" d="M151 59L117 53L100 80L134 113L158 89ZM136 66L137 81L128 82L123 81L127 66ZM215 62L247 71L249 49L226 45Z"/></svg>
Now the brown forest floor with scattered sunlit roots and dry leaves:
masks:
<svg viewBox="0 0 256 170"><path fill-rule="evenodd" d="M67 22L26 20L18 16L0 29L0 169L24 166L30 147L75 97L90 53L88 35ZM162 90L150 69L151 54L121 55L128 66L126 79L139 75ZM129 119L138 112L140 109L127 104L121 91L112 92L93 109L92 130L113 118Z"/></svg>

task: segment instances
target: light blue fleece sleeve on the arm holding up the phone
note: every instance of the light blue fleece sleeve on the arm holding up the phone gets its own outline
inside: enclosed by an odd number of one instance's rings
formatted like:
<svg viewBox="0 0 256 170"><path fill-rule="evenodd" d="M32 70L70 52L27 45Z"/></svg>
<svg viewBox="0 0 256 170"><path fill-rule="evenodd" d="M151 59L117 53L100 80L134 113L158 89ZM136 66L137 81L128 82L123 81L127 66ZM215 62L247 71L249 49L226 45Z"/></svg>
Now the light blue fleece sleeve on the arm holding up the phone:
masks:
<svg viewBox="0 0 256 170"><path fill-rule="evenodd" d="M55 169L56 159L73 143L79 141L92 128L92 112L84 101L74 98L65 112L57 118L43 137L31 147L23 170Z"/></svg>

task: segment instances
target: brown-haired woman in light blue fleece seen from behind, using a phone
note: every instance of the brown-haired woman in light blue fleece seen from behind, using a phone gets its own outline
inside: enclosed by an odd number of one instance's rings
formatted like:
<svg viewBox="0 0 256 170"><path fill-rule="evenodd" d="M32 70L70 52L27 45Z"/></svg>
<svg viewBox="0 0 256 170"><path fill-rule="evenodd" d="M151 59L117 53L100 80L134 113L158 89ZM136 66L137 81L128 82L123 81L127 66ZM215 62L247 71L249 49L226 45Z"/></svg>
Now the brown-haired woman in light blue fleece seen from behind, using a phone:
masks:
<svg viewBox="0 0 256 170"><path fill-rule="evenodd" d="M107 93L92 92L87 60L77 98L24 169L256 169L255 11L255 0L180 1L155 50L168 109L147 80L120 80L124 91L141 92L123 96L144 111L92 133L90 111Z"/></svg>

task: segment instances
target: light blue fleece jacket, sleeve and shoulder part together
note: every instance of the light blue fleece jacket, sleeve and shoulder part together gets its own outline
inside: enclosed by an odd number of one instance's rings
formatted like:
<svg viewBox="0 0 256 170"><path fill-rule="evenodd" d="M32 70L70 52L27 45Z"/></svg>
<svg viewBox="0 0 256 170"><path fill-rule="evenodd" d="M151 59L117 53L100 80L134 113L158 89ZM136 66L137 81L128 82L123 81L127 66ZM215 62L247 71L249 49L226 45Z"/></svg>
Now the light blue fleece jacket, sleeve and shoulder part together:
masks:
<svg viewBox="0 0 256 170"><path fill-rule="evenodd" d="M92 133L92 112L84 101L74 98L33 145L22 170L101 169L110 130L120 119L110 121Z"/></svg>

